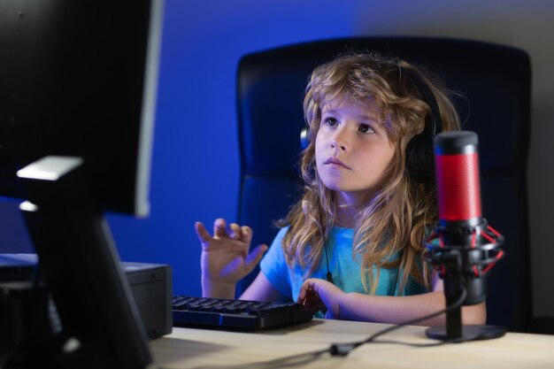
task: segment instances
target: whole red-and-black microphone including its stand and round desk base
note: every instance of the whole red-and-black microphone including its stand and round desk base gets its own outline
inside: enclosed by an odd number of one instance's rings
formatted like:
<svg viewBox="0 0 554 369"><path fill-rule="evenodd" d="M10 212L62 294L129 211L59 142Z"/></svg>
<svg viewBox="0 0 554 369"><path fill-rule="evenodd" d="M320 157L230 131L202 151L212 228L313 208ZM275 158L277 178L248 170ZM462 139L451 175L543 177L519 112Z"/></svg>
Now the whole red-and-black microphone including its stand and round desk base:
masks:
<svg viewBox="0 0 554 369"><path fill-rule="evenodd" d="M461 305L479 304L487 296L485 275L503 257L501 234L481 215L479 140L468 131L435 136L435 175L439 224L427 238L427 260L438 270L450 309L446 327L427 328L440 340L500 337L504 327L462 326ZM463 300L462 300L463 299Z"/></svg>

